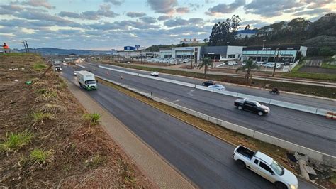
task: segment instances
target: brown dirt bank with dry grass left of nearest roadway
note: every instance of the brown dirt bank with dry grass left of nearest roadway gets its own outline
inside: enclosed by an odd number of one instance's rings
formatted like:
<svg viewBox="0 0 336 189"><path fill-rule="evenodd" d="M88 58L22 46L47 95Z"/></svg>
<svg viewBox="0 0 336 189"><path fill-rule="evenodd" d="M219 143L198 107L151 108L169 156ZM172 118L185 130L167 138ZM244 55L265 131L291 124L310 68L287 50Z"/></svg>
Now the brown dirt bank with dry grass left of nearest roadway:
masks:
<svg viewBox="0 0 336 189"><path fill-rule="evenodd" d="M155 188L99 125L83 119L65 80L52 71L39 78L44 70L38 55L0 55L0 186ZM10 137L18 134L29 139Z"/></svg>

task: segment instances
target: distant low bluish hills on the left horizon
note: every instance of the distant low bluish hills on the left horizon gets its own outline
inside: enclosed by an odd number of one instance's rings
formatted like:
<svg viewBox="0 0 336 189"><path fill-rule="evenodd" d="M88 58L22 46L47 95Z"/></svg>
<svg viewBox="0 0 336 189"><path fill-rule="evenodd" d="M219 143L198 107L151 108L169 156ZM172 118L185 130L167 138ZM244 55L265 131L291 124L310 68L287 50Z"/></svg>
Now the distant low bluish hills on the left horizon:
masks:
<svg viewBox="0 0 336 189"><path fill-rule="evenodd" d="M18 50L20 52L25 52L24 49ZM109 54L111 51L109 50L77 50L77 49L61 49L61 48L34 48L31 49L31 52L40 53L43 55L101 55L101 54Z"/></svg>

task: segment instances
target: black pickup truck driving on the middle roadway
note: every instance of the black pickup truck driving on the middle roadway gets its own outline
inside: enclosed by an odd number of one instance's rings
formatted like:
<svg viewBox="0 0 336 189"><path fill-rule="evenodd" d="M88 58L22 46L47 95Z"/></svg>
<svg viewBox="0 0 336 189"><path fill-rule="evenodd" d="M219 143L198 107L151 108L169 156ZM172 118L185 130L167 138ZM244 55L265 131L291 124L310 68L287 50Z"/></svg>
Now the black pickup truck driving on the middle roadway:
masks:
<svg viewBox="0 0 336 189"><path fill-rule="evenodd" d="M259 104L259 102L251 99L237 99L235 101L235 106L240 110L244 109L250 112L255 112L259 116L269 114L269 107Z"/></svg>

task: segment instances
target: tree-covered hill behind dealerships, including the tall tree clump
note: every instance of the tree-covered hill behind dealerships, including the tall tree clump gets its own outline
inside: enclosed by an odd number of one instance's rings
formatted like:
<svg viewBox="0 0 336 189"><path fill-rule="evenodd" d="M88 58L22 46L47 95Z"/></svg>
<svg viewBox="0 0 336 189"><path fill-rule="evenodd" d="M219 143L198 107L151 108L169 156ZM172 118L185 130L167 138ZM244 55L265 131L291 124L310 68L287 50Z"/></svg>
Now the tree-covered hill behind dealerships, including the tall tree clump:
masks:
<svg viewBox="0 0 336 189"><path fill-rule="evenodd" d="M230 45L260 46L265 45L304 45L308 47L308 55L336 54L336 13L328 13L317 21L304 18L294 18L291 21L272 23L262 28L254 28L257 35L251 38L235 39L241 19L237 15L227 18L223 22L215 23L209 39L197 45ZM252 24L252 23L251 23ZM249 25L248 25L249 26ZM245 27L250 29L250 27ZM159 51L164 48L194 46L195 44L152 45L146 50Z"/></svg>

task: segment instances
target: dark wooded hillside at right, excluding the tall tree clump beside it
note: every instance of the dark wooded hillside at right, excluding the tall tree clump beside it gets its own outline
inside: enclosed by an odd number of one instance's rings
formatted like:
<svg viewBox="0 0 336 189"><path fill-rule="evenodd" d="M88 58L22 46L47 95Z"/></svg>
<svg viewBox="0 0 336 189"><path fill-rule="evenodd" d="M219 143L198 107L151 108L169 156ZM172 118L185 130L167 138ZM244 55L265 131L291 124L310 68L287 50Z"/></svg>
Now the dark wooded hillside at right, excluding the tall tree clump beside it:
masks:
<svg viewBox="0 0 336 189"><path fill-rule="evenodd" d="M308 47L308 55L318 55L320 48L329 47L336 53L336 14L328 13L315 22L295 18L257 29L257 36L235 40L233 45L298 44Z"/></svg>

